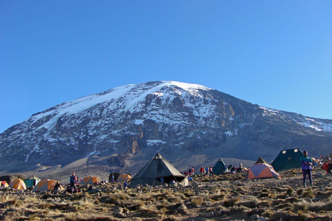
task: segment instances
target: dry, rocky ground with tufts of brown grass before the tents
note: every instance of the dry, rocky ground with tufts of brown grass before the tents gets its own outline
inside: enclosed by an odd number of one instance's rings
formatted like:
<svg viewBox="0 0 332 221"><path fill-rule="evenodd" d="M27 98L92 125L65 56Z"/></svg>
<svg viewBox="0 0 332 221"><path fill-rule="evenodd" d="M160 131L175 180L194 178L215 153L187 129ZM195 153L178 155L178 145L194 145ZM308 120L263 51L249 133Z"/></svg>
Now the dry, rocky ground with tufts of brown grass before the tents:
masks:
<svg viewBox="0 0 332 221"><path fill-rule="evenodd" d="M332 220L332 176L321 173L313 171L307 188L293 169L281 179L246 182L241 174L194 177L199 186L177 189L112 183L73 195L4 190L0 220Z"/></svg>

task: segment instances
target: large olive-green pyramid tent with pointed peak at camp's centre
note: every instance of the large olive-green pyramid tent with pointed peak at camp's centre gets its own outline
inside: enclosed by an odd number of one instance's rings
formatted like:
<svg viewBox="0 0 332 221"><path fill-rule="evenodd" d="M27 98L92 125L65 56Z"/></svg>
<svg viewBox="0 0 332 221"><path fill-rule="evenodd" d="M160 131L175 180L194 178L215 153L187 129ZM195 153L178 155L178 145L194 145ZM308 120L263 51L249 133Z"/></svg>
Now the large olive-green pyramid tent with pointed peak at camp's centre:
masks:
<svg viewBox="0 0 332 221"><path fill-rule="evenodd" d="M187 186L187 178L174 168L160 153L156 153L149 162L133 177L131 185L136 184L149 184L156 186L162 184L160 178L165 180L165 183L169 183L170 180L180 183L183 186Z"/></svg>

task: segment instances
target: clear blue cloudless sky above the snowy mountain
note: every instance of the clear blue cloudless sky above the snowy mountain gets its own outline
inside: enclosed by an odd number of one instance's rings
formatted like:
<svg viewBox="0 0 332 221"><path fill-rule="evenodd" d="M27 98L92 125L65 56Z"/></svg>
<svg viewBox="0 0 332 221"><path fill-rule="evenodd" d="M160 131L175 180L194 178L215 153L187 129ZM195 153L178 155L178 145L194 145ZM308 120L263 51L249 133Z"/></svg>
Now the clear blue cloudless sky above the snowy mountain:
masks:
<svg viewBox="0 0 332 221"><path fill-rule="evenodd" d="M332 119L332 1L0 1L0 133L127 84Z"/></svg>

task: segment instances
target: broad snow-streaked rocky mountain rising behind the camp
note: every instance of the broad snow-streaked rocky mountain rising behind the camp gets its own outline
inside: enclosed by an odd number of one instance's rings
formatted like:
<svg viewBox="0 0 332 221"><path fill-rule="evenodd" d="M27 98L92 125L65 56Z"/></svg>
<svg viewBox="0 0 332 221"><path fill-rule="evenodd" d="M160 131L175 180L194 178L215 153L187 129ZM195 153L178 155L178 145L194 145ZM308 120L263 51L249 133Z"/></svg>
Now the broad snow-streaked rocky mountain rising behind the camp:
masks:
<svg viewBox="0 0 332 221"><path fill-rule="evenodd" d="M66 165L109 157L109 166L205 155L272 161L285 148L329 153L332 120L263 108L176 81L127 85L36 113L0 135L0 162Z"/></svg>

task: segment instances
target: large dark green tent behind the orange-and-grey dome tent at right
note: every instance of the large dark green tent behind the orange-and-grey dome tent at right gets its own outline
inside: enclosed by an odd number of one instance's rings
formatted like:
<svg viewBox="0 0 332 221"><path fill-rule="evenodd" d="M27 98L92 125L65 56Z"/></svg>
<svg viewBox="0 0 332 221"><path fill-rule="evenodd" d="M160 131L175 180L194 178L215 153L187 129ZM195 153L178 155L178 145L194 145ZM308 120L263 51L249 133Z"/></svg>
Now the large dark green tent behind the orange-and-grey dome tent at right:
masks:
<svg viewBox="0 0 332 221"><path fill-rule="evenodd" d="M283 171L293 168L301 167L299 163L299 158L303 156L303 152L298 149L288 149L285 151L280 151L279 155L272 162L272 166L275 171Z"/></svg>

